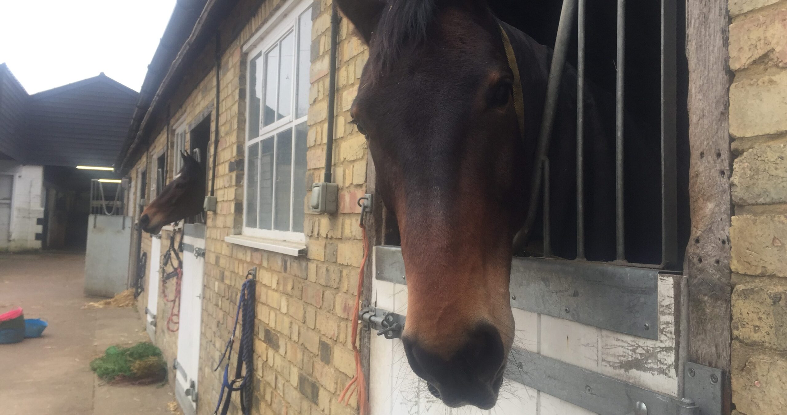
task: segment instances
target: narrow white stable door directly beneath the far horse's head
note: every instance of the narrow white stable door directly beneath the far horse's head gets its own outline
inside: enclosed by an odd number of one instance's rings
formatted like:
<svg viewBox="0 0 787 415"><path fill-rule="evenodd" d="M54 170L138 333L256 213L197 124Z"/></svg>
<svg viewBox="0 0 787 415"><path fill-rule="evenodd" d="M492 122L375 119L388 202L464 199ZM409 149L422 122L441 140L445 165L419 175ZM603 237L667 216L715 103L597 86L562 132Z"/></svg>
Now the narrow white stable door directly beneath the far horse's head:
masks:
<svg viewBox="0 0 787 415"><path fill-rule="evenodd" d="M205 225L186 224L183 235L183 281L180 285L176 397L185 413L198 402L202 281L205 271Z"/></svg>

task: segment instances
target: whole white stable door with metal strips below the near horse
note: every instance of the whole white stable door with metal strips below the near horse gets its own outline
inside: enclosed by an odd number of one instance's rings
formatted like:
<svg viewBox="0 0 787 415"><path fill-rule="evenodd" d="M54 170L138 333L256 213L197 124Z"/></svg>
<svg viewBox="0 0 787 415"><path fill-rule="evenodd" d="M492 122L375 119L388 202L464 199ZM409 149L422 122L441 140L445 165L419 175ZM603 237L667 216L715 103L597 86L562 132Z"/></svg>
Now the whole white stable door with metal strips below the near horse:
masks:
<svg viewBox="0 0 787 415"><path fill-rule="evenodd" d="M372 326L372 415L674 415L683 413L682 383L698 404L707 397L697 390L720 384L708 382L709 368L682 359L683 276L514 258L515 339L497 406L451 409L412 372L401 339L377 335L382 327L374 320L386 313L406 324L408 287L398 246L375 246L371 258L376 317L364 321ZM704 382L700 388L693 387L696 380Z"/></svg>

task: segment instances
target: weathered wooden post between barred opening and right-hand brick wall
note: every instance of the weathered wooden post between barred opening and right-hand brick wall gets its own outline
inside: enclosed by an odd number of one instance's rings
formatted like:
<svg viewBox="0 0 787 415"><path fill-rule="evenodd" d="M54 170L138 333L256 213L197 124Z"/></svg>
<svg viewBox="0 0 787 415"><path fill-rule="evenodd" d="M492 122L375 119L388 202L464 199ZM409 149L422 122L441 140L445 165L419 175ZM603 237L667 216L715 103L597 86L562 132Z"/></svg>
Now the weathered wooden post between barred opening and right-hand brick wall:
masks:
<svg viewBox="0 0 787 415"><path fill-rule="evenodd" d="M722 369L722 413L730 394L730 72L726 0L687 0L689 63L689 361Z"/></svg>

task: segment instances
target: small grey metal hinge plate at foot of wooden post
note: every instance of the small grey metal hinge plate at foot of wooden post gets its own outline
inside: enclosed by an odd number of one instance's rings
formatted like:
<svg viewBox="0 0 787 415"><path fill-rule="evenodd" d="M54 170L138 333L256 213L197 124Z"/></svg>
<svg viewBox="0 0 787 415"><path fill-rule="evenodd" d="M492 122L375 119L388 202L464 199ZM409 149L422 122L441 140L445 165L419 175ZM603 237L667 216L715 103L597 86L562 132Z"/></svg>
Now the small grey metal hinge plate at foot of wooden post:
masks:
<svg viewBox="0 0 787 415"><path fill-rule="evenodd" d="M722 370L697 365L690 361L683 365L683 391L692 398L698 415L721 415L722 413Z"/></svg>

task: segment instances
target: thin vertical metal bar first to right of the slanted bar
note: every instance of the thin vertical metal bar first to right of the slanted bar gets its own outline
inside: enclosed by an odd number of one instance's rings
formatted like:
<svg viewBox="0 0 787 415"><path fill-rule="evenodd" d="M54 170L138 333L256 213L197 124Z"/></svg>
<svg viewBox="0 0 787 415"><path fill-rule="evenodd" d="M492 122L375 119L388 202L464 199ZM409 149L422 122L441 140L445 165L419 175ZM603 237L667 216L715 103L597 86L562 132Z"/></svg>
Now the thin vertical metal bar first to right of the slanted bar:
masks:
<svg viewBox="0 0 787 415"><path fill-rule="evenodd" d="M577 11L577 259L585 259L585 0Z"/></svg>

